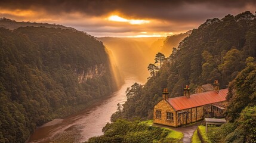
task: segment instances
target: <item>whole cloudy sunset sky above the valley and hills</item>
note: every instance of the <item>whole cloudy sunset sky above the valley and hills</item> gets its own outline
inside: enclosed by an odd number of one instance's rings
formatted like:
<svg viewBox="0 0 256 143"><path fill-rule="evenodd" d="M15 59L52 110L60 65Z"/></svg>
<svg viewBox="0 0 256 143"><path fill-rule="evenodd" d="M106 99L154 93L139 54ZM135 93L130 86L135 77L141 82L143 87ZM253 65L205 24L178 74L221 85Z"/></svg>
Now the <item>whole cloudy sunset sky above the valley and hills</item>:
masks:
<svg viewBox="0 0 256 143"><path fill-rule="evenodd" d="M255 0L0 0L0 17L61 24L96 37L174 35L247 10L255 14Z"/></svg>

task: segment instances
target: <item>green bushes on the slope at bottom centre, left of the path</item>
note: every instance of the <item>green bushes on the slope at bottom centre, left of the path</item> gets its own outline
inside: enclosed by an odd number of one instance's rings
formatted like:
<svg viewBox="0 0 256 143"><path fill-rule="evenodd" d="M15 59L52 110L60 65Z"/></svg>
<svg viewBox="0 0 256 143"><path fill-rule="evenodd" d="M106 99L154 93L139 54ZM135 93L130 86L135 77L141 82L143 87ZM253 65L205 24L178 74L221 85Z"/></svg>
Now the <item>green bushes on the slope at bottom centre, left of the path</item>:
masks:
<svg viewBox="0 0 256 143"><path fill-rule="evenodd" d="M148 126L138 121L117 120L107 123L103 128L104 135L93 137L88 142L179 142L182 136L172 138L171 129ZM181 133L182 135L182 133Z"/></svg>

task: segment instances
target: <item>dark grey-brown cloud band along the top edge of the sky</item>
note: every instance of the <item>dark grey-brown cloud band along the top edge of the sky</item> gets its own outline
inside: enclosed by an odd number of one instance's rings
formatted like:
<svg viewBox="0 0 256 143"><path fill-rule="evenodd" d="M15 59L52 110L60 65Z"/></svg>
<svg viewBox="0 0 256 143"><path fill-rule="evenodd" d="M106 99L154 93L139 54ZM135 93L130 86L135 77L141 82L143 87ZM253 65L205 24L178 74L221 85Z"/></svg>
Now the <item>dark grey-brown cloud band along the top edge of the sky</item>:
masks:
<svg viewBox="0 0 256 143"><path fill-rule="evenodd" d="M206 18L223 17L233 11L240 13L248 5L255 8L256 1L234 0L53 0L53 1L0 1L1 8L10 10L45 10L50 14L79 12L101 16L119 11L131 18L156 18L174 21L196 21ZM254 12L254 11L253 11Z"/></svg>

